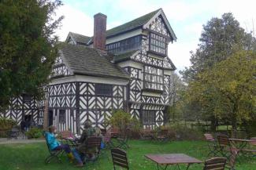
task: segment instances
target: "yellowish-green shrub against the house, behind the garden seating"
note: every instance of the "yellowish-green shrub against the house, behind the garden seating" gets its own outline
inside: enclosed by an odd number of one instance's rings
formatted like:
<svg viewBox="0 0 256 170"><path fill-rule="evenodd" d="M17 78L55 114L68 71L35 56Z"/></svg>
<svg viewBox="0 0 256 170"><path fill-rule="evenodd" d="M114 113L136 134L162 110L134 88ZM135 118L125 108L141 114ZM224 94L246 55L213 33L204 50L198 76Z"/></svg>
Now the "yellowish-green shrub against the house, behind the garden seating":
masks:
<svg viewBox="0 0 256 170"><path fill-rule="evenodd" d="M131 114L128 114L124 110L113 111L113 115L109 119L109 125L118 128L122 136L124 136L129 129L133 137L138 137L141 129L139 120L132 118Z"/></svg>

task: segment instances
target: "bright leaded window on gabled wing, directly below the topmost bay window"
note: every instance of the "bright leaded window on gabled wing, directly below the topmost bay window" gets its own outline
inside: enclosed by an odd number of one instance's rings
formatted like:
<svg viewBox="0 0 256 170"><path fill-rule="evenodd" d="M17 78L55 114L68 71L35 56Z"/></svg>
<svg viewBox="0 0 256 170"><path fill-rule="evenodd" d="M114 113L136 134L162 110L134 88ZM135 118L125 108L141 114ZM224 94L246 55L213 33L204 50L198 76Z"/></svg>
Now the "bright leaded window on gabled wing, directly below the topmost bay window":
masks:
<svg viewBox="0 0 256 170"><path fill-rule="evenodd" d="M163 70L155 67L144 67L144 89L164 89L164 74Z"/></svg>

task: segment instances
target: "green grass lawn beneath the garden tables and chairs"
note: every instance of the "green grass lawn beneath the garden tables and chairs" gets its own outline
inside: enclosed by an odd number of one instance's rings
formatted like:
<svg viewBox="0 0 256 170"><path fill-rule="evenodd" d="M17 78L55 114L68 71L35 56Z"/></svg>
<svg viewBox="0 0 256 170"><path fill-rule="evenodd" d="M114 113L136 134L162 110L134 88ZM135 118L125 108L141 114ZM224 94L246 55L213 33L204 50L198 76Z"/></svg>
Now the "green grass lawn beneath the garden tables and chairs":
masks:
<svg viewBox="0 0 256 170"><path fill-rule="evenodd" d="M128 149L128 161L131 169L157 169L152 161L147 160L144 154L164 154L164 153L184 153L192 157L197 157L200 160L206 160L207 146L202 141L183 141L158 143L152 141L132 140L130 141L131 148ZM102 157L98 161L88 163L85 168L87 170L108 170L113 169L112 160L109 150L103 151ZM0 169L1 170L72 170L74 165L67 161L65 155L62 157L62 164L57 161L50 162L49 165L44 164L44 159L48 155L46 143L33 144L9 144L0 145ZM237 164L236 170L255 170L256 157L247 160L239 157L240 164ZM184 169L185 167L182 167ZM171 169L171 168L169 168ZM191 165L190 170L202 169L202 165Z"/></svg>

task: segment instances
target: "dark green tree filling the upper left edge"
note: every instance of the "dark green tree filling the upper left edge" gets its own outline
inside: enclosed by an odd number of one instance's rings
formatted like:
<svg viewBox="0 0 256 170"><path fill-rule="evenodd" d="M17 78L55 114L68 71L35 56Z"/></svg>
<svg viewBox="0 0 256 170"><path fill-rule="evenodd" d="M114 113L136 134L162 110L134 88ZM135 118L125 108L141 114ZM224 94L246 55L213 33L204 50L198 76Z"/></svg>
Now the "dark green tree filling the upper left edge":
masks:
<svg viewBox="0 0 256 170"><path fill-rule="evenodd" d="M0 109L9 99L26 93L42 96L39 86L49 81L58 55L54 20L59 0L2 0L0 2Z"/></svg>

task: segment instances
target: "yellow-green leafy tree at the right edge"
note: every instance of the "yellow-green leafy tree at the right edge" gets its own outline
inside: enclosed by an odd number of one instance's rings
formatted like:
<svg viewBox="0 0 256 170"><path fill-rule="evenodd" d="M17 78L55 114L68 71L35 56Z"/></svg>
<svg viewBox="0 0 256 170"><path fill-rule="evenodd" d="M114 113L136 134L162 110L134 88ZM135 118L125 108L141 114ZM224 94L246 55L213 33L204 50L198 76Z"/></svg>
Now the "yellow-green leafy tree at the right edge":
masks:
<svg viewBox="0 0 256 170"><path fill-rule="evenodd" d="M212 69L198 74L188 85L187 99L198 102L202 115L223 118L232 128L255 118L256 52L241 50Z"/></svg>

